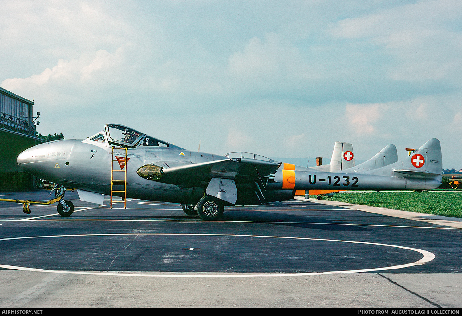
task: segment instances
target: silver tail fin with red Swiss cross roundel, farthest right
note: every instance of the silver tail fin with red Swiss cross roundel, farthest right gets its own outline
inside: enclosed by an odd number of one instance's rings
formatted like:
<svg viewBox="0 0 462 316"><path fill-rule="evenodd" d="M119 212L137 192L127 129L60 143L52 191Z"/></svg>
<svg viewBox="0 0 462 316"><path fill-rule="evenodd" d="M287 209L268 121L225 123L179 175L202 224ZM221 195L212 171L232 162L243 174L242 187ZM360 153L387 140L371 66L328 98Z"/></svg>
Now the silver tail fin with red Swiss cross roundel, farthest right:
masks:
<svg viewBox="0 0 462 316"><path fill-rule="evenodd" d="M403 176L439 176L442 174L442 170L441 145L436 138L427 141L417 152L393 168L394 172Z"/></svg>

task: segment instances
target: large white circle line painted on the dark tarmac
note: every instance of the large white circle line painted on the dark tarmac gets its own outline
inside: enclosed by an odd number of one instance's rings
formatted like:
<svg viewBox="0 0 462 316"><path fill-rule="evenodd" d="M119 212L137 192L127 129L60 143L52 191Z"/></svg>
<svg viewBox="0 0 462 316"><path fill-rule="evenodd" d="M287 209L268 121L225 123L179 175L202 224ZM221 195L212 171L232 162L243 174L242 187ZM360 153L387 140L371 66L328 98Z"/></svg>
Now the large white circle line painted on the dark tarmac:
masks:
<svg viewBox="0 0 462 316"><path fill-rule="evenodd" d="M20 239L34 239L34 238L56 238L56 237L88 237L88 236L137 236L137 235L148 235L148 236L228 236L228 237L258 237L258 238L278 238L278 239L297 239L297 240L315 240L315 241L327 241L327 242L338 242L338 243L358 243L358 244L366 244L366 245L376 245L376 246L384 246L384 247L393 247L393 248L400 248L400 249L407 249L419 252L423 257L415 262L405 263L397 266L391 267L378 267L378 268L371 268L371 269L358 269L358 270L343 270L343 271L327 271L327 272L310 272L310 273L278 273L278 274L271 274L271 273L260 273L260 274L194 274L194 273L183 273L183 274L134 274L134 273L103 273L103 272L85 272L85 271L65 271L65 270L44 270L44 269L37 269L37 268L28 268L28 267L17 267L17 266L9 266L0 264L0 267L12 270L21 270L21 271L36 271L36 272L49 272L49 273L67 273L67 274L91 274L91 275L115 275L115 276L141 276L141 277L175 277L175 278L216 278L216 277L281 277L281 276L304 276L304 275L321 275L321 274L339 274L339 273L359 273L359 272L372 272L372 271L383 271L383 270L394 270L394 269L401 269L405 267L413 267L425 264L427 262L432 261L435 259L435 255L433 255L430 251L417 249L417 248L410 248L398 245L390 245L387 243L369 243L369 242L358 242L358 241L351 241L351 240L338 240L338 239L322 239L322 238L307 238L307 237L283 237L283 236L261 236L261 235L235 235L235 234L187 234L187 233L124 233L124 234L81 234L81 235L49 235L49 236L30 236L30 237L12 237L12 238L1 238L0 241L7 241L7 240L20 240Z"/></svg>

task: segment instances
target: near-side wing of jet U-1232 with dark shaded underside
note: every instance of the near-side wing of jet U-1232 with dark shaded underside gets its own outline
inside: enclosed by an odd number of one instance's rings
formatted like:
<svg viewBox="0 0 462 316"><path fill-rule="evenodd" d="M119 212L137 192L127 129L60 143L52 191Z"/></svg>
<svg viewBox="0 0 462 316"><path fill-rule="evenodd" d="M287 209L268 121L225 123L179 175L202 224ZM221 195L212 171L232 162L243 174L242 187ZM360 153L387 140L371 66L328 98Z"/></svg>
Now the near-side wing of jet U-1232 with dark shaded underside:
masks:
<svg viewBox="0 0 462 316"><path fill-rule="evenodd" d="M137 173L148 180L191 187L206 186L212 178L233 179L236 183L254 182L271 176L280 164L258 159L227 158L171 168L147 164Z"/></svg>

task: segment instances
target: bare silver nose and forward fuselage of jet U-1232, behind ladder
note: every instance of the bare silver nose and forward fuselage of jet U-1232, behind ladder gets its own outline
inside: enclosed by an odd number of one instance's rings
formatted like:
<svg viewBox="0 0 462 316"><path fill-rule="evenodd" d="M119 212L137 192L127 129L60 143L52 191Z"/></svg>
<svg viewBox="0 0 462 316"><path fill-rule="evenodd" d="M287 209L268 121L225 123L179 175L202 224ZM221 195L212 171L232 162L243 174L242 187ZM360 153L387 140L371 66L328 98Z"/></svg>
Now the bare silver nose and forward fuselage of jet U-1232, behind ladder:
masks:
<svg viewBox="0 0 462 316"><path fill-rule="evenodd" d="M123 161L125 151L115 149L114 156ZM168 168L225 159L223 156L191 152L173 145L168 148L130 148L127 158L128 197L191 204L203 196L204 188L181 188L168 183L153 182L138 176L136 170L146 164L160 164ZM65 187L110 194L112 147L107 142L55 140L25 150L17 160L23 170L39 178L60 183ZM119 166L117 163L114 163L114 168L124 169L123 165Z"/></svg>

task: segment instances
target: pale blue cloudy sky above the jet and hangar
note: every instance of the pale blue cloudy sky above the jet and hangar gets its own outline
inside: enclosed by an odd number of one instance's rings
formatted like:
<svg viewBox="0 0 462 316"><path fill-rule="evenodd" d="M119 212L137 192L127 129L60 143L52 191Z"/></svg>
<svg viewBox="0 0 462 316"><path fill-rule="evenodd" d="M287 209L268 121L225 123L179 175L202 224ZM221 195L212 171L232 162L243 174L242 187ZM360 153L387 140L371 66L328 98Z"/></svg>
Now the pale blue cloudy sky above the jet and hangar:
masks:
<svg viewBox="0 0 462 316"><path fill-rule="evenodd" d="M462 168L460 0L2 0L0 86L41 134L119 123L189 150Z"/></svg>

